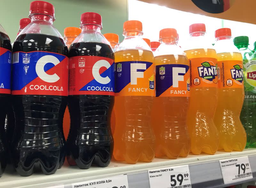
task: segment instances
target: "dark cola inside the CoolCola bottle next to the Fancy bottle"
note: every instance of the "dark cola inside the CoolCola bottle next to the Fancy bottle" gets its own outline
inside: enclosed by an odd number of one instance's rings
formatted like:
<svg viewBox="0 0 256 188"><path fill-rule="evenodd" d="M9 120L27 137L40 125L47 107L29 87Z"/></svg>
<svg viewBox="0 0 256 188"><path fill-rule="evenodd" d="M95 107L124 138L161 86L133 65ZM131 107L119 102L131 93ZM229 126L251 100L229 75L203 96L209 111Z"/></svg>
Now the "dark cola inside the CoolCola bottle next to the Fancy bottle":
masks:
<svg viewBox="0 0 256 188"><path fill-rule="evenodd" d="M86 49L86 50L84 50ZM107 44L78 42L69 48L69 57L101 56L114 60L114 53ZM113 153L113 139L110 131L110 117L114 97L109 95L68 96L70 131L67 145L68 162L79 168L90 168L91 164L105 167ZM74 163L75 160L75 163Z"/></svg>

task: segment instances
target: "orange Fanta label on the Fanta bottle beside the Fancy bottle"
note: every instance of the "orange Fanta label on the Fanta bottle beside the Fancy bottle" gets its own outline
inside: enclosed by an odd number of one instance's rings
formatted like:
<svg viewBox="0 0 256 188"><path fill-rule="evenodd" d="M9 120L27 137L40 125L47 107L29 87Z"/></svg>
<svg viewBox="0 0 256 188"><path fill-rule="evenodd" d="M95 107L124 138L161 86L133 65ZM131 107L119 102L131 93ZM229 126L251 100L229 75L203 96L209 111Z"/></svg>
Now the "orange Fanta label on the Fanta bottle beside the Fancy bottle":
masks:
<svg viewBox="0 0 256 188"><path fill-rule="evenodd" d="M191 87L218 87L217 59L200 57L189 59Z"/></svg>

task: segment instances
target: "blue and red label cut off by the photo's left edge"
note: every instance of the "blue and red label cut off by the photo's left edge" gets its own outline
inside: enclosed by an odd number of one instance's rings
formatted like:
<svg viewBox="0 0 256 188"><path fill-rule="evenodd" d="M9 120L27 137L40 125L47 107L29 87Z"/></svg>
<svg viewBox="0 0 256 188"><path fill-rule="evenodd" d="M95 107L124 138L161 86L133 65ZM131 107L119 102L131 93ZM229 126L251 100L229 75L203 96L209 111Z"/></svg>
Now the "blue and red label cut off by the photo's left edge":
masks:
<svg viewBox="0 0 256 188"><path fill-rule="evenodd" d="M12 52L0 47L0 93L11 94Z"/></svg>

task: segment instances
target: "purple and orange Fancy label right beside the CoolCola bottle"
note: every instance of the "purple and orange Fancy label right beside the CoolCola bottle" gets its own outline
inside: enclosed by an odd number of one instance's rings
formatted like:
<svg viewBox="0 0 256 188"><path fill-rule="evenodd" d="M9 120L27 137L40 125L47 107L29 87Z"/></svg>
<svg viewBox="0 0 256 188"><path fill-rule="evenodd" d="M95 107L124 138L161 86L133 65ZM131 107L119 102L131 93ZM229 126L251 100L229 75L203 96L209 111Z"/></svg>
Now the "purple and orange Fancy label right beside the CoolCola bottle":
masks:
<svg viewBox="0 0 256 188"><path fill-rule="evenodd" d="M156 96L155 67L147 61L116 64L116 96Z"/></svg>

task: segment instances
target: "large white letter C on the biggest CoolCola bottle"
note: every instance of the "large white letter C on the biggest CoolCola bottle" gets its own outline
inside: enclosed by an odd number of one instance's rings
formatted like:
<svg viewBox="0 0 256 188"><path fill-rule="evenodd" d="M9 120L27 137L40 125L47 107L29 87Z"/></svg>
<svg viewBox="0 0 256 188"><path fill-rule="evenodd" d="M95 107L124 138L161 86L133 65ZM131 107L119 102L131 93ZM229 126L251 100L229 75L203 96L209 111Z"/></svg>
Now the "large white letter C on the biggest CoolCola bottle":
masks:
<svg viewBox="0 0 256 188"><path fill-rule="evenodd" d="M48 83L53 83L57 82L60 77L54 73L53 75L48 75L46 72L44 72L44 66L47 63L53 63L54 65L58 65L60 61L58 60L57 57L54 57L52 55L45 55L41 57L37 62L36 62L36 74L41 78L44 82Z"/></svg>

